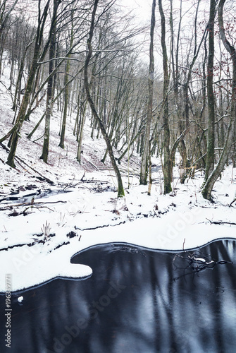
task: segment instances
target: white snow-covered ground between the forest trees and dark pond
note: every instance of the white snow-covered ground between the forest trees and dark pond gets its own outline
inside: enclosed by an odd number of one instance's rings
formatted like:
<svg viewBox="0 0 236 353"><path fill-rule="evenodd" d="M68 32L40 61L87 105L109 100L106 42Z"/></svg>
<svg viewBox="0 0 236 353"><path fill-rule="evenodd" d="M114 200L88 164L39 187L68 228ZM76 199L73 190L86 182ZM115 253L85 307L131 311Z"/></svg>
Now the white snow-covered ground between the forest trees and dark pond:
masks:
<svg viewBox="0 0 236 353"><path fill-rule="evenodd" d="M0 132L11 127L13 111L8 87L8 70L0 83ZM162 194L161 161L154 159L151 196L147 186L139 186L139 157L123 159L120 169L125 198L117 198L116 177L111 169L97 170L106 150L104 141L90 137L89 118L82 145L82 162L76 161L73 116L68 117L66 148L59 143L58 112L51 121L49 164L39 160L42 138L27 140L42 115L37 109L25 122L16 160L16 169L5 164L7 152L0 145L0 292L5 291L5 275L11 274L11 289L17 291L39 285L55 277L80 278L92 274L86 265L70 263L70 258L89 246L122 242L150 249L178 251L204 245L213 239L236 238L236 169L226 167L213 191L215 203L201 196L204 174L195 174L180 184L178 166L174 170L173 193ZM32 140L43 135L43 124ZM6 146L6 141L4 143ZM109 161L106 163L110 167ZM33 169L35 169L35 171ZM42 180L42 176L54 184ZM44 191L54 191L44 194ZM66 191L66 192L65 192ZM8 201L7 198L25 197ZM50 196L50 197L47 197ZM31 205L32 201L32 205ZM11 208L9 206L11 205ZM217 222L221 224L216 224Z"/></svg>

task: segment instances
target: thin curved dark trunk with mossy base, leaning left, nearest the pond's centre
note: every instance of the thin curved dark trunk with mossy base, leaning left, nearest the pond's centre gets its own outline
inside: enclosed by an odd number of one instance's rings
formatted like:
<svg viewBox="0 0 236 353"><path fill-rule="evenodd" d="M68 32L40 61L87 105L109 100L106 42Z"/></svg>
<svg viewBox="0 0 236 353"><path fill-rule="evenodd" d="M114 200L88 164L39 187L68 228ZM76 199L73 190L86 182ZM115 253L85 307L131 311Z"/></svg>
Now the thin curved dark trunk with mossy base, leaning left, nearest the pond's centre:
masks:
<svg viewBox="0 0 236 353"><path fill-rule="evenodd" d="M99 3L99 0L95 0L94 1L94 8L92 11L92 19L91 19L91 24L90 24L90 30L89 30L89 38L87 40L87 47L88 47L88 53L87 53L87 58L85 59L85 90L86 90L86 94L87 94L87 101L89 102L90 108L92 110L92 114L94 116L94 119L96 119L99 128L101 130L102 135L104 136L104 140L106 142L106 147L108 149L108 154L111 158L111 164L113 166L114 172L116 173L116 178L118 181L118 197L122 197L125 196L125 191L123 188L123 183L122 183L122 179L121 179L121 175L120 175L120 171L117 167L116 164L116 160L115 157L113 155L113 150L111 147L111 141L108 138L108 134L106 133L106 129L104 127L103 122L101 121L99 114L97 114L97 109L94 105L94 101L92 100L91 94L90 94L90 90L89 90L89 80L88 80L88 66L89 66L89 61L91 59L92 56L92 37L94 34L94 20L95 20L95 14L97 11L97 5Z"/></svg>

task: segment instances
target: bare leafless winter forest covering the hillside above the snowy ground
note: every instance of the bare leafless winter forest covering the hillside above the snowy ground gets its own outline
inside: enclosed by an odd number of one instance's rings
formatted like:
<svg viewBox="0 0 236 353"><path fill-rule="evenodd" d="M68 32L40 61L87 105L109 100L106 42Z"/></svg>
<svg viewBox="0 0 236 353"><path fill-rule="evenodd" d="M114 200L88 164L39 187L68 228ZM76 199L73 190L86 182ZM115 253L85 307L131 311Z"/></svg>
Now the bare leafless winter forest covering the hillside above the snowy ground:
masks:
<svg viewBox="0 0 236 353"><path fill-rule="evenodd" d="M21 129L33 120L27 139L40 143L47 163L51 117L60 112L58 146L67 148L69 119L78 164L85 124L91 141L104 138L101 163L111 164L119 197L120 162L135 154L149 193L155 156L163 193L172 191L178 164L182 184L204 171L201 192L211 200L225 165L236 162L235 1L153 0L142 26L126 10L116 0L0 1L0 83L10 66L4 90L14 112L11 128L0 131L4 162L15 168L23 158Z"/></svg>

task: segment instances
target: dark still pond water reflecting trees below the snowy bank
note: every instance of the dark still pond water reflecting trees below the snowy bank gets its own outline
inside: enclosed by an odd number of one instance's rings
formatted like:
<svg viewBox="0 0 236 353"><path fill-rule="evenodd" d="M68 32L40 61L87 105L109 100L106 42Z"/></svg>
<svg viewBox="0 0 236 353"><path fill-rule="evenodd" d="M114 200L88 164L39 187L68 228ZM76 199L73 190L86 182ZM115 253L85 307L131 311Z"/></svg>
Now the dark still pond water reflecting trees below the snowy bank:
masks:
<svg viewBox="0 0 236 353"><path fill-rule="evenodd" d="M182 257L118 244L90 248L72 262L91 266L92 277L27 290L23 305L12 295L11 349L0 297L1 352L236 352L235 246L215 241ZM222 260L233 264L216 263ZM204 269L203 261L214 263Z"/></svg>

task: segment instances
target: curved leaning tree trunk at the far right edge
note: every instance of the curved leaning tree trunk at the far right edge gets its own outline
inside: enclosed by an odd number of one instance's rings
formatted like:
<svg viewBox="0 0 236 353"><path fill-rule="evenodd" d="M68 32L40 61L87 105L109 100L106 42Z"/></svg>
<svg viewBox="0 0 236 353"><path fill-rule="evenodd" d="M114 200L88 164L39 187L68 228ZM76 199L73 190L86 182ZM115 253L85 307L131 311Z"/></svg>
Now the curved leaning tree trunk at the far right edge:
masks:
<svg viewBox="0 0 236 353"><path fill-rule="evenodd" d="M223 168L225 167L225 163L228 160L228 154L230 152L230 148L232 143L234 142L235 137L235 128L236 128L236 50L235 47L232 47L230 42L228 42L225 36L225 28L223 24L223 6L225 4L225 0L220 0L218 6L218 20L219 20L219 29L221 34L221 40L224 44L225 49L230 53L230 57L232 59L232 98L231 98L231 110L230 110L230 124L228 126L227 136L225 139L225 145L223 147L223 151L221 152L221 157L216 164L215 169L207 179L204 184L204 188L201 193L204 198L211 200L211 191L213 186L220 176Z"/></svg>

